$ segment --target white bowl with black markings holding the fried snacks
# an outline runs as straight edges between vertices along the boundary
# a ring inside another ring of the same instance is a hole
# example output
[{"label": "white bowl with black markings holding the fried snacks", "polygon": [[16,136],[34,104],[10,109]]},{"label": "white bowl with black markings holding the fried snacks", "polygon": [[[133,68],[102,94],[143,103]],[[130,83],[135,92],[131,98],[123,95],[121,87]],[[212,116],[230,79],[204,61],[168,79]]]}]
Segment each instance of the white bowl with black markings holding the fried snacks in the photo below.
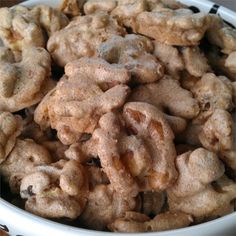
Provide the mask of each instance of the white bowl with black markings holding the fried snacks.
[{"label": "white bowl with black markings holding the fried snacks", "polygon": [[[203,12],[213,11],[221,15],[221,17],[230,22],[236,27],[236,13],[225,8],[219,7],[213,2],[206,0],[179,0],[180,2],[194,6]],[[47,4],[57,7],[60,0],[30,0],[24,2],[22,5],[33,6],[36,4]],[[215,6],[214,6],[215,5]],[[1,187],[1,186],[0,186]],[[86,230],[63,224],[55,223],[50,220],[32,215],[24,210],[21,210],[14,205],[6,202],[0,198],[0,229],[5,228],[9,230],[11,236],[117,236],[117,235],[134,235],[134,234],[119,234],[100,232],[94,230]],[[1,236],[0,232],[0,236]],[[187,228],[154,232],[154,233],[140,233],[139,236],[222,236],[222,235],[236,235],[236,212],[227,216],[221,217],[207,223],[190,226]]]}]

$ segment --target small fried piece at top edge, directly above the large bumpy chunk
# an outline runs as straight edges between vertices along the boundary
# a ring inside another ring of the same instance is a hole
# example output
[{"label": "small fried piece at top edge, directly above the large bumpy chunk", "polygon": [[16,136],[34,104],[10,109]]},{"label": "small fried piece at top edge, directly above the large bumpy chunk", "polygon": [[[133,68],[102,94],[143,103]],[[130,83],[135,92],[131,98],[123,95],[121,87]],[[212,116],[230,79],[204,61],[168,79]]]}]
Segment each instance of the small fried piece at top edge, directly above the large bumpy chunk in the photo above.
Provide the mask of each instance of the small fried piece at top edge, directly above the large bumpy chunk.
[{"label": "small fried piece at top edge, directly above the large bumpy chunk", "polygon": [[116,0],[88,0],[84,4],[84,12],[86,15],[97,12],[111,12],[117,5]]}]

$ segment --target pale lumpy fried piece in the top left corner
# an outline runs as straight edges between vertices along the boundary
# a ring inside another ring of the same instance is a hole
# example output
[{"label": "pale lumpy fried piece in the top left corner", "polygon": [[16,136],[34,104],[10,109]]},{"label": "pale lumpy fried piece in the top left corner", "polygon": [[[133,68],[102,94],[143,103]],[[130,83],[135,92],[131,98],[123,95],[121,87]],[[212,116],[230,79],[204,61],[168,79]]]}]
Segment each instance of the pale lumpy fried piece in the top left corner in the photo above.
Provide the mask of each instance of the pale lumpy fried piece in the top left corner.
[{"label": "pale lumpy fried piece in the top left corner", "polygon": [[44,47],[43,30],[26,7],[0,8],[0,38],[12,50]]}]

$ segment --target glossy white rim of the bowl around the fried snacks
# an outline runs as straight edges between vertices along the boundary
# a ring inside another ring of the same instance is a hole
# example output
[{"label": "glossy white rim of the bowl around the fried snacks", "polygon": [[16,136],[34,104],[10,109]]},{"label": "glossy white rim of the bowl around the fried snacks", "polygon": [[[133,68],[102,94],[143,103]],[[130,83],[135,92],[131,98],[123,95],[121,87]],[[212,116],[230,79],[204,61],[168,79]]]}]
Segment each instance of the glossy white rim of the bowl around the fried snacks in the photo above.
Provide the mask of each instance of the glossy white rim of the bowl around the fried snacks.
[{"label": "glossy white rim of the bowl around the fried snacks", "polygon": [[[211,9],[213,5],[217,5],[220,7],[221,11],[220,13],[221,16],[224,19],[230,19],[230,20],[234,20],[233,25],[236,26],[236,12],[220,6],[218,4],[215,4],[214,2],[208,1],[208,0],[178,0],[186,5],[194,5],[196,4],[196,6],[198,6],[200,9]],[[60,0],[27,0],[23,3],[21,3],[20,5],[24,5],[24,6],[33,6],[35,4],[49,4],[49,5],[53,5],[53,6],[58,6]],[[23,217],[26,221],[30,222],[30,221],[34,221],[36,224],[38,225],[44,225],[47,226],[48,228],[51,227],[56,227],[58,230],[60,231],[65,231],[65,230],[69,230],[71,233],[81,233],[81,234],[89,234],[89,235],[95,235],[95,236],[101,236],[101,235],[108,235],[108,236],[112,236],[112,235],[137,235],[137,233],[118,233],[118,232],[105,232],[105,231],[99,231],[99,230],[91,230],[91,229],[85,229],[85,228],[79,228],[79,227],[75,227],[75,226],[70,226],[70,225],[66,225],[66,224],[62,224],[62,223],[58,223],[55,221],[52,221],[50,219],[45,219],[43,217],[34,215],[30,212],[27,212],[26,210],[23,210],[9,202],[7,202],[6,200],[4,200],[1,195],[0,195],[0,209],[2,208],[3,211],[5,212],[9,212],[12,214],[16,214],[18,217]],[[167,235],[171,235],[173,233],[191,233],[193,230],[201,230],[204,227],[209,227],[209,226],[213,226],[215,224],[219,224],[221,222],[224,222],[226,220],[235,218],[236,220],[236,211],[233,213],[230,213],[228,215],[222,216],[220,218],[214,219],[214,220],[210,220],[208,222],[204,222],[198,225],[192,225],[192,226],[188,226],[188,227],[184,227],[184,228],[179,228],[179,229],[173,229],[173,230],[167,230],[167,231],[159,231],[159,232],[145,232],[145,233],[138,233],[139,236],[167,236]],[[1,223],[1,222],[0,222]],[[199,231],[200,232],[200,231]]]}]

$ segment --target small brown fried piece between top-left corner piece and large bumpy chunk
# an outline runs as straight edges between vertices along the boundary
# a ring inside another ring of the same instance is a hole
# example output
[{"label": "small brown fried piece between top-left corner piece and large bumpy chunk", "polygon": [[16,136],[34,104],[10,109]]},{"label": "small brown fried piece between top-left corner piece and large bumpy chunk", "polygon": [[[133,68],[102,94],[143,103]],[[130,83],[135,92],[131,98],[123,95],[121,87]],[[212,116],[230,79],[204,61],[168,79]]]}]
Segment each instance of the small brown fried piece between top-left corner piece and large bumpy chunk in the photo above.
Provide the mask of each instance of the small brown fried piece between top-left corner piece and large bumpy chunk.
[{"label": "small brown fried piece between top-left corner piece and large bumpy chunk", "polygon": [[63,13],[47,5],[35,6],[31,10],[31,14],[33,14],[34,19],[47,32],[48,36],[51,36],[69,24],[68,18]]}]

